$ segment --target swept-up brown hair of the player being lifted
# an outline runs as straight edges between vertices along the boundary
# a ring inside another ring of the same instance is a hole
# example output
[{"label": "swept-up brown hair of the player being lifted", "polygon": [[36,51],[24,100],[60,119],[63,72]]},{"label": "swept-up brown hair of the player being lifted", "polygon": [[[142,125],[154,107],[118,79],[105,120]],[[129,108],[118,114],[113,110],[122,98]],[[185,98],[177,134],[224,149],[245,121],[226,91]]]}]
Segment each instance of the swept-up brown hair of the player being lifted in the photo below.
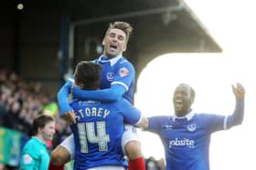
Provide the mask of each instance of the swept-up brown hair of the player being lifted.
[{"label": "swept-up brown hair of the player being lifted", "polygon": [[107,35],[107,33],[109,33],[109,31],[110,31],[111,29],[114,29],[114,28],[116,28],[116,29],[121,29],[121,30],[125,33],[125,35],[126,35],[126,41],[125,41],[125,43],[127,44],[128,41],[129,41],[130,35],[131,35],[132,32],[133,32],[133,27],[132,27],[132,25],[130,25],[129,23],[123,22],[123,21],[116,21],[116,22],[114,22],[113,24],[110,23],[110,25],[109,25],[109,27],[108,27],[108,29],[107,29],[107,31],[106,31],[106,35]]}]

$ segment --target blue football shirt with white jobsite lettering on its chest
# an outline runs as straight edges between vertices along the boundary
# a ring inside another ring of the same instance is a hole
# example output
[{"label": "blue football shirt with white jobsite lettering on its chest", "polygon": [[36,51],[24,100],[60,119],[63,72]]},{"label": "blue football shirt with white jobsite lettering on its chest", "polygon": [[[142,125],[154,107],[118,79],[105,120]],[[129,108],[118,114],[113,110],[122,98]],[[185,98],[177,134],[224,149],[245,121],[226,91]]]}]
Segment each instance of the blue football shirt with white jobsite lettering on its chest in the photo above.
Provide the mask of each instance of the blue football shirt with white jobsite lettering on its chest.
[{"label": "blue football shirt with white jobsite lettering on its chest", "polygon": [[166,170],[208,170],[210,135],[225,129],[224,115],[194,114],[149,117],[148,131],[165,146]]}]

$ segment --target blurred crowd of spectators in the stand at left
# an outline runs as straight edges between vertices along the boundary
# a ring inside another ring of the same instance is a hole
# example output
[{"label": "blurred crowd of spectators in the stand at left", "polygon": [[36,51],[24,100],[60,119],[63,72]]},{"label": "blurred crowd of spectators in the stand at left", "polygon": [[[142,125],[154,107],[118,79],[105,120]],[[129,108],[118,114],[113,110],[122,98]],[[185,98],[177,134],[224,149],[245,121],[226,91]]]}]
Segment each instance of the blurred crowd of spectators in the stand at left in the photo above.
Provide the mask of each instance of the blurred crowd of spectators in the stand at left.
[{"label": "blurred crowd of spectators in the stand at left", "polygon": [[[0,126],[20,131],[29,138],[33,135],[32,123],[37,115],[54,116],[56,135],[48,144],[49,151],[70,134],[68,125],[59,117],[55,98],[55,94],[40,83],[27,83],[14,72],[0,69]],[[0,165],[0,169],[5,168]]]}]

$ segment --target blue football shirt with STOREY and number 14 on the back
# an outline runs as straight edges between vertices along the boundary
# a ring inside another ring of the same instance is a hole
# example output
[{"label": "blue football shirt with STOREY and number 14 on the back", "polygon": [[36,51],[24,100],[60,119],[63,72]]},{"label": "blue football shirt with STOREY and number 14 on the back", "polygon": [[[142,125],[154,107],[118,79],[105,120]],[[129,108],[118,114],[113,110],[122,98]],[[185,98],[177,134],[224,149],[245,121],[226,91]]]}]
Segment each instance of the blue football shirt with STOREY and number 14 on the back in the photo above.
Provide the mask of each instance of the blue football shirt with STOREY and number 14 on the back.
[{"label": "blue football shirt with STOREY and number 14 on the back", "polygon": [[74,100],[77,123],[71,125],[76,148],[74,169],[127,165],[123,158],[123,122],[136,124],[141,113],[127,100],[113,103]]}]

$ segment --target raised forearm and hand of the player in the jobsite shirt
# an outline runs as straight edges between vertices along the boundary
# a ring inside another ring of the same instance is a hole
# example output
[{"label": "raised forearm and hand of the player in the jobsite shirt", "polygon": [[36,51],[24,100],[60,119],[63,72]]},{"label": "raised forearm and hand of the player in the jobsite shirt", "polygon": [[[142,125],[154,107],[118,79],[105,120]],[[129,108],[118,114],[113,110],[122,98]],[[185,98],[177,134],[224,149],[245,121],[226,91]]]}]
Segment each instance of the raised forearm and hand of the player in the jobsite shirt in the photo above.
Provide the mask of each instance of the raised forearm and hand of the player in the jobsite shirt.
[{"label": "raised forearm and hand of the player in the jobsite shirt", "polygon": [[233,115],[229,115],[227,119],[227,128],[234,125],[240,125],[243,121],[244,115],[244,95],[245,89],[239,83],[235,86],[232,85],[233,93],[236,97],[236,106]]}]

